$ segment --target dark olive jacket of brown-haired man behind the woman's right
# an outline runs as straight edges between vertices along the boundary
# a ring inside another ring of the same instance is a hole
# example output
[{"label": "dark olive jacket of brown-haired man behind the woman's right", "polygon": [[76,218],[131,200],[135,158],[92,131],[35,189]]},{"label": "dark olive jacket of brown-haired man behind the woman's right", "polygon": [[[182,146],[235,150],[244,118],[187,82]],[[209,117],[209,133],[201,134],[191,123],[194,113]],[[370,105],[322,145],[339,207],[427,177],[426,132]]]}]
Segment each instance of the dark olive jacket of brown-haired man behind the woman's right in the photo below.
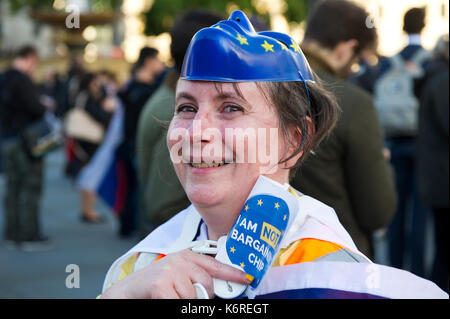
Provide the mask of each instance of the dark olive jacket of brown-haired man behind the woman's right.
[{"label": "dark olive jacket of brown-haired man behind the woman's right", "polygon": [[394,180],[382,154],[382,134],[372,98],[339,80],[332,69],[304,48],[318,76],[342,110],[335,129],[316,148],[291,185],[335,209],[358,249],[372,256],[371,234],[387,227],[396,208]]}]

